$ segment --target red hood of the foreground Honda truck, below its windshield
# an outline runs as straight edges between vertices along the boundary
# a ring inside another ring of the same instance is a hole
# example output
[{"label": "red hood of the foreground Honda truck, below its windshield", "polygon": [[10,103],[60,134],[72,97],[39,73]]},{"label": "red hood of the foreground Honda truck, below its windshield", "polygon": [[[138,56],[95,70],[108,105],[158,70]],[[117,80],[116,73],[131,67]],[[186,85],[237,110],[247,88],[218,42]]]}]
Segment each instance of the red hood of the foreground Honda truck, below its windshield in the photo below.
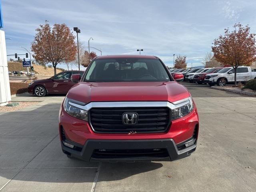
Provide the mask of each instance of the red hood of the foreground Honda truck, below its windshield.
[{"label": "red hood of the foreground Honda truck, below its windshield", "polygon": [[79,82],[67,97],[81,102],[97,101],[169,101],[189,97],[188,90],[170,82]]}]

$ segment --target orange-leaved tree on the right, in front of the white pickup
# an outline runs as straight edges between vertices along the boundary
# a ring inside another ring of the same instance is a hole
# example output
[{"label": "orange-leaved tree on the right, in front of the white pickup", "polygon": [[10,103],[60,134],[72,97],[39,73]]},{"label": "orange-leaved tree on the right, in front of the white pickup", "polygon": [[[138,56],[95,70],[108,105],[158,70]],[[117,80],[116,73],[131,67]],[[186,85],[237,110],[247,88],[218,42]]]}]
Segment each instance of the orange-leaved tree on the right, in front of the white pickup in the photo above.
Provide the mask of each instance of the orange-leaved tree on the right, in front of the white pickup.
[{"label": "orange-leaved tree on the right, in front of the white pickup", "polygon": [[238,66],[250,66],[256,61],[255,33],[250,33],[250,27],[234,24],[234,30],[224,30],[213,42],[212,52],[218,62],[230,64],[234,68],[234,81],[236,86],[236,70]]}]

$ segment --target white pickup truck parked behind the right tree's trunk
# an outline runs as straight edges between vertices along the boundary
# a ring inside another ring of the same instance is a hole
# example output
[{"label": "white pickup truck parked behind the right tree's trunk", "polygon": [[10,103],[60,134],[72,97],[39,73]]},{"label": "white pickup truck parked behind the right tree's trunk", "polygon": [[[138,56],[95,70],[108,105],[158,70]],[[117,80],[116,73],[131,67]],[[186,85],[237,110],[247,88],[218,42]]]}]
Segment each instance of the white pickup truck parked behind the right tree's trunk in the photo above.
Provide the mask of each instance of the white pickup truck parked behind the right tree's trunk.
[{"label": "white pickup truck parked behind the right tree's trunk", "polygon": [[[248,80],[255,79],[256,72],[252,72],[250,67],[241,66],[236,70],[236,81],[247,82]],[[226,67],[220,70],[218,73],[211,73],[205,76],[204,82],[210,86],[219,85],[225,86],[228,83],[234,83],[235,73],[233,67]]]}]

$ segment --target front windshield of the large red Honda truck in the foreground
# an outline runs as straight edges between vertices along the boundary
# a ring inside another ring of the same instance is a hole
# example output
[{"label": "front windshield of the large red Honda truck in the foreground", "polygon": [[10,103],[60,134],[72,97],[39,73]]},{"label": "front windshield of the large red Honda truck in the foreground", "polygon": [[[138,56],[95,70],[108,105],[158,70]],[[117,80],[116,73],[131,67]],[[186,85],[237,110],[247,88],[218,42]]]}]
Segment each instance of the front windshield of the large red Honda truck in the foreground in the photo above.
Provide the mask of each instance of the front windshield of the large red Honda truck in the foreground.
[{"label": "front windshield of the large red Honda truck in the foreground", "polygon": [[163,64],[157,59],[99,59],[87,71],[85,82],[170,81]]}]

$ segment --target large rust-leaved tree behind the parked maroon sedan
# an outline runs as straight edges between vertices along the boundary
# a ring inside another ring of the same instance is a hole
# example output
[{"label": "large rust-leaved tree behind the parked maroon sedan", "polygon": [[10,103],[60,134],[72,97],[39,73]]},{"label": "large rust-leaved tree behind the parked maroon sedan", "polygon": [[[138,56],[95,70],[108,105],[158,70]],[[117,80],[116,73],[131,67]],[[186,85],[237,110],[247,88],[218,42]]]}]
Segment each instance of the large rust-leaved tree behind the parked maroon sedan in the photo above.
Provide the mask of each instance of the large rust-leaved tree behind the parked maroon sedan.
[{"label": "large rust-leaved tree behind the parked maroon sedan", "polygon": [[32,44],[33,57],[40,62],[52,63],[54,74],[56,66],[62,62],[75,60],[75,36],[66,24],[54,24],[51,28],[48,21],[36,29]]}]

